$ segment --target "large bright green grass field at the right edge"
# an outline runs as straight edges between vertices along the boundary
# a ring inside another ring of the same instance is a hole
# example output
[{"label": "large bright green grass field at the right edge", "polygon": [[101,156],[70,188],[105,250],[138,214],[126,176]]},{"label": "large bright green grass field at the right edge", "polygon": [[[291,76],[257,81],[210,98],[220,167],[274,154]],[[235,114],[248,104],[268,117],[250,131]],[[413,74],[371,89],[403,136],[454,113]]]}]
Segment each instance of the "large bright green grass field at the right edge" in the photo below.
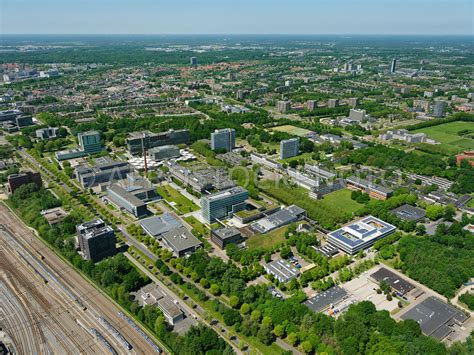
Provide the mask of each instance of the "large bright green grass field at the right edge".
[{"label": "large bright green grass field at the right edge", "polygon": [[438,147],[442,152],[445,154],[456,154],[463,150],[474,149],[474,139],[457,134],[462,130],[474,131],[474,123],[449,122],[438,126],[417,129],[412,133],[426,133],[429,138],[441,143]]}]

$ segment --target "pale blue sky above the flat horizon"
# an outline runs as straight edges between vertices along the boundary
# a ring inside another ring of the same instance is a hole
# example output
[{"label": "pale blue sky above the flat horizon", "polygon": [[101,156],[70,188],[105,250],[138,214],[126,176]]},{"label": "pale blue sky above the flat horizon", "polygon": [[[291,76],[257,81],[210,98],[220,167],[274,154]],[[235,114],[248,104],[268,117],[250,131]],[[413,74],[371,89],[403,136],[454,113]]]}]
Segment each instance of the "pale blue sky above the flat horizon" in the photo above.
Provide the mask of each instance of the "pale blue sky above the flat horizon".
[{"label": "pale blue sky above the flat horizon", "polygon": [[0,0],[0,35],[473,35],[473,3],[473,0]]}]

